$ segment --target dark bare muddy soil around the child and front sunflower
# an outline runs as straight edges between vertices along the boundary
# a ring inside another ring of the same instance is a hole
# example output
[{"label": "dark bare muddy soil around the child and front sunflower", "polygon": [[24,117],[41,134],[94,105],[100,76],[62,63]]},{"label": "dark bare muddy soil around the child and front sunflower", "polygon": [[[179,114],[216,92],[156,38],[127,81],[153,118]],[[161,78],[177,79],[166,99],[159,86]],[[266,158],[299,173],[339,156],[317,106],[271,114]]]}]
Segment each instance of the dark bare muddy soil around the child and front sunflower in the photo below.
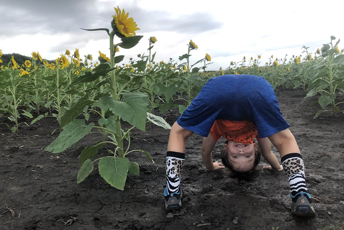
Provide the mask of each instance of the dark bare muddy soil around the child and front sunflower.
[{"label": "dark bare muddy soil around the child and front sunflower", "polygon": [[[0,125],[0,229],[322,229],[344,226],[344,115],[322,114],[312,119],[318,105],[304,92],[276,90],[284,118],[298,141],[306,167],[308,191],[316,217],[291,214],[289,184],[284,172],[262,170],[255,182],[238,183],[221,171],[207,171],[201,160],[202,137],[187,141],[182,170],[183,208],[168,213],[163,202],[165,153],[169,130],[151,124],[133,130],[131,149],[150,152],[129,155],[140,165],[140,176],[130,174],[125,190],[111,187],[97,167],[77,184],[78,155],[99,136],[87,135],[77,146],[59,154],[43,149],[57,136],[54,119],[42,119],[12,134]],[[314,98],[313,98],[314,99]],[[339,98],[344,101],[343,95]],[[340,101],[338,100],[338,101]],[[171,125],[177,110],[164,117]],[[32,119],[31,119],[32,120]],[[28,123],[31,121],[28,120]],[[96,117],[90,121],[96,122]],[[123,123],[123,127],[129,125]],[[223,141],[223,139],[221,139]],[[99,154],[107,155],[107,146]],[[213,151],[220,160],[222,143]],[[278,152],[274,149],[279,158]],[[267,163],[261,160],[260,168]],[[8,206],[11,212],[5,207]],[[7,212],[6,212],[7,211]],[[72,219],[76,218],[72,221]],[[233,220],[236,220],[233,221]],[[64,222],[66,225],[64,225]],[[67,225],[70,223],[70,225]],[[201,224],[201,226],[200,226]],[[198,226],[198,227],[197,227]]]}]

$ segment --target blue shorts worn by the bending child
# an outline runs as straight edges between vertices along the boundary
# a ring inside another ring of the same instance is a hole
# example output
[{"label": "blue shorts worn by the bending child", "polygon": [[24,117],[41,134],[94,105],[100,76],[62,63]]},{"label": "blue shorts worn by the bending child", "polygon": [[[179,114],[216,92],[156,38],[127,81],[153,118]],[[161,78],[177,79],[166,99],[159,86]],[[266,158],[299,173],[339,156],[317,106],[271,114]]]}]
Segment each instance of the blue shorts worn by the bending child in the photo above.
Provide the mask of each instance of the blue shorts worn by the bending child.
[{"label": "blue shorts worn by the bending child", "polygon": [[201,136],[208,136],[217,119],[252,121],[258,138],[289,128],[272,86],[254,75],[222,75],[211,78],[192,100],[177,123]]}]

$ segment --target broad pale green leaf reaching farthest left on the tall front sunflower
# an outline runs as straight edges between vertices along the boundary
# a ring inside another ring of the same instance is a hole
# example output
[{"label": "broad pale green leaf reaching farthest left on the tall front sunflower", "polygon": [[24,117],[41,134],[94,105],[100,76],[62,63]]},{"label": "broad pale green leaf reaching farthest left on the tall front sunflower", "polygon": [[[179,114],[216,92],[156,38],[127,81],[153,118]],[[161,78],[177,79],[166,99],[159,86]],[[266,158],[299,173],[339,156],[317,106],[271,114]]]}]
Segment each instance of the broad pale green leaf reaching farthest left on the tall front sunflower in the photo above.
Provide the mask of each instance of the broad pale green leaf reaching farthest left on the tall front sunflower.
[{"label": "broad pale green leaf reaching farthest left on the tall front sunflower", "polygon": [[58,135],[56,140],[44,150],[52,153],[60,153],[65,151],[68,147],[72,146],[72,144],[82,139],[87,133],[90,133],[93,127],[93,122],[86,126],[85,120],[75,119],[69,122],[63,128],[63,131],[60,133],[60,135]]}]

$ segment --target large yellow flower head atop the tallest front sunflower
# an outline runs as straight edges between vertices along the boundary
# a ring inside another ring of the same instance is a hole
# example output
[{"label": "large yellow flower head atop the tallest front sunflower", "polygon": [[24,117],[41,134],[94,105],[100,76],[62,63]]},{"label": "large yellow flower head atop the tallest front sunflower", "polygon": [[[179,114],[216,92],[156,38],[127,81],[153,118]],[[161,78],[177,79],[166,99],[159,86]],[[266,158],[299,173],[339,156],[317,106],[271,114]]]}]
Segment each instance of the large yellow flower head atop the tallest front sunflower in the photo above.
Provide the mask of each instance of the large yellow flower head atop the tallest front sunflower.
[{"label": "large yellow flower head atop the tallest front sunflower", "polygon": [[116,14],[112,15],[111,27],[118,37],[131,37],[135,36],[135,31],[140,30],[133,18],[128,18],[129,13],[125,13],[124,9],[121,10],[117,6],[115,8]]}]

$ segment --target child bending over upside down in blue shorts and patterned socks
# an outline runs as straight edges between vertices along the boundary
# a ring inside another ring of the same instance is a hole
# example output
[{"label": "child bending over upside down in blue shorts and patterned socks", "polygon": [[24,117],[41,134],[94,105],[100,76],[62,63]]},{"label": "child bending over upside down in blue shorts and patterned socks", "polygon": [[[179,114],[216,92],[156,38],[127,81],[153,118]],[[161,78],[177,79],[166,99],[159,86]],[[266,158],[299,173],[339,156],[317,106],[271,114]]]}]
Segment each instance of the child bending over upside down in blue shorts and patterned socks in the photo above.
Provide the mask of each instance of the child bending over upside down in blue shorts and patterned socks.
[{"label": "child bending over upside down in blue shorts and patterned socks", "polygon": [[[181,207],[181,169],[186,140],[194,132],[204,136],[202,160],[209,170],[228,168],[230,176],[252,179],[260,154],[269,162],[267,169],[287,173],[292,213],[314,216],[307,193],[303,160],[297,142],[284,120],[272,86],[263,77],[222,75],[211,78],[173,124],[166,154],[166,210]],[[220,136],[228,142],[222,162],[212,161],[212,149]],[[257,136],[258,145],[253,139]],[[281,156],[282,166],[271,152],[271,142]]]}]

